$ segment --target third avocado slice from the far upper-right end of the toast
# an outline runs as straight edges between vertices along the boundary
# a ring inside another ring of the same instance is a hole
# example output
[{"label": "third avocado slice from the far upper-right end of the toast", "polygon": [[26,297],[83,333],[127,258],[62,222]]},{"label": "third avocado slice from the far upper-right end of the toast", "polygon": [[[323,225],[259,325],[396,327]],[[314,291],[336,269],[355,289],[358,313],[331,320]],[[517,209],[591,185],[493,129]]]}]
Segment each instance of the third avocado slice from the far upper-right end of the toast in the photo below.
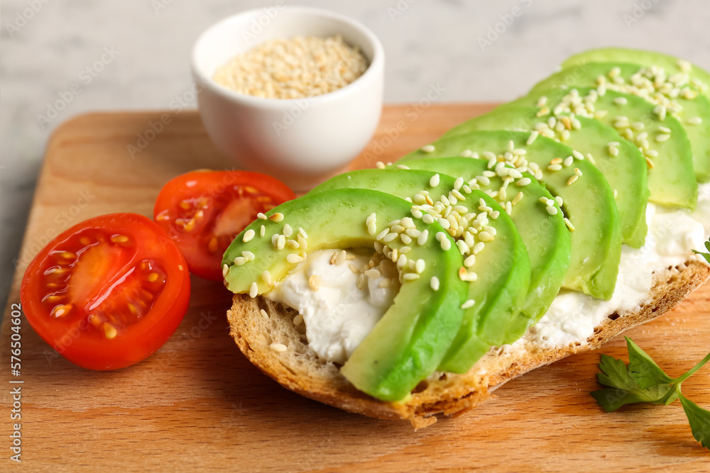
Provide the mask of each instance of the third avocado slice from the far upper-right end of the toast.
[{"label": "third avocado slice from the far upper-right end of the toast", "polygon": [[[541,110],[547,108],[553,116],[571,111],[576,116],[596,118],[643,148],[650,167],[650,201],[665,206],[695,208],[698,186],[693,155],[685,128],[677,118],[665,116],[660,120],[654,111],[655,106],[638,96],[612,90],[599,96],[596,89],[590,87],[537,91],[504,106],[535,106],[542,101],[542,97],[545,97],[546,104],[540,107]],[[636,125],[638,131],[633,130]]]}]

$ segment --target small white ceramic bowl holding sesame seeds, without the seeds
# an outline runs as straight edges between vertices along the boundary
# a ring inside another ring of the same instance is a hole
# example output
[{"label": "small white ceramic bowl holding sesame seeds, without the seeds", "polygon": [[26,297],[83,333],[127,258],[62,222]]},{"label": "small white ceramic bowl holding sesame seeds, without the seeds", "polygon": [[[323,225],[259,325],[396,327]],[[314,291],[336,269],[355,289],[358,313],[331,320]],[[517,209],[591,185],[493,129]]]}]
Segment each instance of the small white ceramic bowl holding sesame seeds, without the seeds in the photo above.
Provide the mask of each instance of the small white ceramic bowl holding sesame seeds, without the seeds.
[{"label": "small white ceramic bowl holding sesame seeds, without the seeds", "polygon": [[[368,69],[351,84],[309,99],[263,99],[214,82],[214,71],[267,40],[342,35]],[[305,191],[336,174],[367,145],[382,111],[384,50],[365,26],[346,16],[300,6],[244,11],[208,28],[192,49],[202,123],[241,169],[271,174]]]}]

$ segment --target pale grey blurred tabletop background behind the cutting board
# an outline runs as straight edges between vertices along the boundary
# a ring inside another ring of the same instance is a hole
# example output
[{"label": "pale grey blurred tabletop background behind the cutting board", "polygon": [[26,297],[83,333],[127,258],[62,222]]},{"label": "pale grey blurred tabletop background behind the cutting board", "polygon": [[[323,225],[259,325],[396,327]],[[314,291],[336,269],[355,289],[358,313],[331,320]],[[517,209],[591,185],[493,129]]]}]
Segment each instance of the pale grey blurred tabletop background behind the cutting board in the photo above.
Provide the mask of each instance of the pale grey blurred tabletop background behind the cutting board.
[{"label": "pale grey blurred tabletop background behind the cutting board", "polygon": [[[3,307],[52,130],[87,111],[168,108],[190,87],[188,55],[200,32],[231,13],[275,1],[2,1]],[[391,103],[417,101],[437,83],[446,89],[442,101],[507,101],[573,52],[606,45],[659,50],[710,67],[708,0],[285,3],[339,11],[371,28],[386,50],[385,99]],[[491,33],[496,29],[500,33]],[[482,47],[481,40],[491,43]],[[82,70],[99,60],[104,48],[116,56],[84,84]],[[80,84],[81,93],[50,123],[39,123],[38,115],[72,84]]]}]

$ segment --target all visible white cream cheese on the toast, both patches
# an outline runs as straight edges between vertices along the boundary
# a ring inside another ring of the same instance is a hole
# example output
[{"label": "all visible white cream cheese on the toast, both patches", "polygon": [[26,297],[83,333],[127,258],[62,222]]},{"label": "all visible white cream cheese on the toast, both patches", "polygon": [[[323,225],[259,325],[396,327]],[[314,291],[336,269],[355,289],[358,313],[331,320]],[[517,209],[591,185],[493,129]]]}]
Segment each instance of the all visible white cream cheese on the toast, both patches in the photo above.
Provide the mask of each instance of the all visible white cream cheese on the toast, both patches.
[{"label": "all visible white cream cheese on the toast, both patches", "polygon": [[[691,250],[703,250],[710,235],[710,184],[699,185],[693,212],[648,204],[648,235],[638,249],[623,246],[616,289],[609,301],[562,290],[540,321],[525,335],[542,348],[586,343],[594,328],[611,313],[623,313],[649,296],[652,272],[682,265]],[[303,317],[310,347],[324,360],[343,363],[391,306],[399,289],[397,279],[382,284],[384,276],[371,279],[362,289],[357,282],[368,255],[357,255],[342,265],[331,263],[334,252],[308,255],[266,294],[269,299],[295,308]],[[704,261],[700,259],[701,261]],[[309,285],[313,275],[320,288]],[[383,287],[386,286],[386,287]]]}]

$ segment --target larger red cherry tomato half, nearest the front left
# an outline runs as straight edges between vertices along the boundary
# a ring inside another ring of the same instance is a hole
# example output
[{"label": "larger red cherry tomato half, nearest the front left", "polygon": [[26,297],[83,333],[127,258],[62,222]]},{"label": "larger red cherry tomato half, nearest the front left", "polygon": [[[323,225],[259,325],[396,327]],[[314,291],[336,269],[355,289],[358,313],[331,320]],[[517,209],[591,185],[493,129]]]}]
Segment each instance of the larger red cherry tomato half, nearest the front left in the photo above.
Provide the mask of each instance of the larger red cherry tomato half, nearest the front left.
[{"label": "larger red cherry tomato half, nearest the front left", "polygon": [[32,260],[20,299],[45,342],[80,367],[117,369],[158,350],[187,312],[190,274],[173,240],[136,213],[69,228]]}]

